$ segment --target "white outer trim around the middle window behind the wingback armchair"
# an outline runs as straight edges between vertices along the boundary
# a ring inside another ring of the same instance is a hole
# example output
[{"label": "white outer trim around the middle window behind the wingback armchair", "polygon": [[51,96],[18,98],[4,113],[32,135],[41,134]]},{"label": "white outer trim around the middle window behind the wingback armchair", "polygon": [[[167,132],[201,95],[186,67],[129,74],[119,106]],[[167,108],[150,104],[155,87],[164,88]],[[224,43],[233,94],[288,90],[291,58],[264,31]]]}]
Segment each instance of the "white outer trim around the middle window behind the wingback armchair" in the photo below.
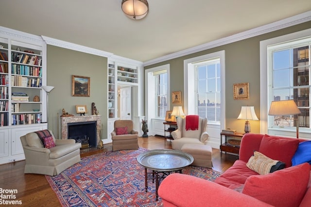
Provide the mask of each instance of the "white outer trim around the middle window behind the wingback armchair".
[{"label": "white outer trim around the middle window behind the wingback armchair", "polygon": [[[208,59],[213,59],[213,58],[220,58],[220,77],[221,77],[221,117],[220,117],[220,128],[225,128],[225,50],[222,51],[218,51],[218,52],[213,52],[207,55],[202,55],[202,56],[198,56],[195,58],[190,58],[187,60],[184,60],[184,109],[185,109],[185,113],[189,114],[189,113],[193,113],[194,109],[189,109],[189,102],[190,101],[195,101],[192,99],[189,99],[188,94],[192,93],[190,92],[189,86],[190,85],[194,85],[193,82],[190,81],[194,81],[194,77],[190,77],[191,74],[189,73],[189,67],[191,67],[192,63],[195,62],[200,62],[200,61],[204,61],[204,60],[208,60]],[[195,92],[193,92],[195,93]],[[191,104],[194,104],[191,103]]]}]

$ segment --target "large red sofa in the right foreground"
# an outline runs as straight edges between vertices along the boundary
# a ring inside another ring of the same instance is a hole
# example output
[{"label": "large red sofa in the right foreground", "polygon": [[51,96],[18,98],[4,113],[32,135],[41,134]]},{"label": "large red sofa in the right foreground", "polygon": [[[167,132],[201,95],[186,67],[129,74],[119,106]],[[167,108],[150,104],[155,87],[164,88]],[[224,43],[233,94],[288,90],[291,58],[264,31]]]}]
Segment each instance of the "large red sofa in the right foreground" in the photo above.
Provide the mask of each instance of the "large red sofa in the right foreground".
[{"label": "large red sofa in the right foreground", "polygon": [[[164,207],[311,207],[310,164],[292,166],[298,145],[304,141],[245,134],[239,160],[214,182],[171,174],[160,184],[158,194]],[[259,175],[246,166],[254,151],[284,162],[285,169]]]}]

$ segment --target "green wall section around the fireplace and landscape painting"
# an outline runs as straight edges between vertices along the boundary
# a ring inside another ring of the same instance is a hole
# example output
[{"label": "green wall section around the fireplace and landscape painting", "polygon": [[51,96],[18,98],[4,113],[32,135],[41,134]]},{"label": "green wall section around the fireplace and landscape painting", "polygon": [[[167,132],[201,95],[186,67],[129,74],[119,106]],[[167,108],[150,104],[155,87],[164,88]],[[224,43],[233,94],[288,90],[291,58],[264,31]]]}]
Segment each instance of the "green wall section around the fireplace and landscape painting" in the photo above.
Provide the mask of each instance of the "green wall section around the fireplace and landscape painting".
[{"label": "green wall section around the fireplace and landscape painting", "polygon": [[[71,75],[90,77],[90,96],[71,96]],[[91,104],[102,115],[102,138],[107,134],[107,58],[75,50],[47,46],[47,85],[55,88],[49,94],[49,129],[60,138],[62,109],[77,116],[75,105]]]}]

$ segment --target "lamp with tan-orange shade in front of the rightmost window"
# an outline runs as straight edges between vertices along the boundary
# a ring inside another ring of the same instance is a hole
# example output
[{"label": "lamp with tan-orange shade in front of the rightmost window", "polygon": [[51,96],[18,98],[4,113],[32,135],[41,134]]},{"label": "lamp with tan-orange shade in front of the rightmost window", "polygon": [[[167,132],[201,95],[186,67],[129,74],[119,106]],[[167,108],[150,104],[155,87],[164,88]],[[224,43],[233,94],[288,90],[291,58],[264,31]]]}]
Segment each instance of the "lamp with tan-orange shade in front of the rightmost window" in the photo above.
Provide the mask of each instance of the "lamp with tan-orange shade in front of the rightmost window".
[{"label": "lamp with tan-orange shade in front of the rightmost window", "polygon": [[[272,101],[270,105],[269,115],[297,115],[301,113],[294,100]],[[294,119],[295,120],[295,119]],[[296,119],[296,137],[299,138],[299,120]]]}]

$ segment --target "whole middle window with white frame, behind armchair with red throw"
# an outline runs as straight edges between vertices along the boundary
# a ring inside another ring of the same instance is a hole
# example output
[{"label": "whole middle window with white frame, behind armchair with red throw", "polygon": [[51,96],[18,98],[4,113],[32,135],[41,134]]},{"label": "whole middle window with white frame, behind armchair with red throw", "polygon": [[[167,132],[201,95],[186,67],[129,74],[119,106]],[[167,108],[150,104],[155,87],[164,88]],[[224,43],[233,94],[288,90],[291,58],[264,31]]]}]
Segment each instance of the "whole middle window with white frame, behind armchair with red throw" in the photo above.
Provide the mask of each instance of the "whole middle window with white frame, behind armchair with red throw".
[{"label": "whole middle window with white frame, behind armchair with red throw", "polygon": [[225,127],[225,105],[221,105],[225,102],[222,74],[225,74],[224,50],[184,61],[185,113],[207,117],[208,126],[214,125],[214,129]]}]

